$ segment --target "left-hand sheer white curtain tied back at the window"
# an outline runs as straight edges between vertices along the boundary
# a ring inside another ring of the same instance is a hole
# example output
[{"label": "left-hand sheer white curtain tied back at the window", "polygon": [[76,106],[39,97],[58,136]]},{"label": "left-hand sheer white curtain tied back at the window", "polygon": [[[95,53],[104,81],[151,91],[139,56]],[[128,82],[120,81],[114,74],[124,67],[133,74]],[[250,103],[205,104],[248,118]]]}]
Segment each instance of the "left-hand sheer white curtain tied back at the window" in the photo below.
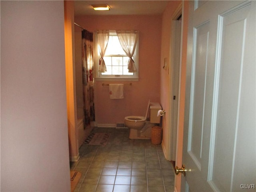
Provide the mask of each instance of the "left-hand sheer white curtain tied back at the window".
[{"label": "left-hand sheer white curtain tied back at the window", "polygon": [[109,31],[107,30],[100,30],[96,33],[97,35],[97,42],[98,42],[98,48],[99,48],[99,52],[100,52],[100,61],[99,61],[99,72],[106,72],[107,68],[106,68],[106,64],[105,61],[103,59],[105,52],[106,52],[106,48],[108,46],[108,39],[109,39]]}]

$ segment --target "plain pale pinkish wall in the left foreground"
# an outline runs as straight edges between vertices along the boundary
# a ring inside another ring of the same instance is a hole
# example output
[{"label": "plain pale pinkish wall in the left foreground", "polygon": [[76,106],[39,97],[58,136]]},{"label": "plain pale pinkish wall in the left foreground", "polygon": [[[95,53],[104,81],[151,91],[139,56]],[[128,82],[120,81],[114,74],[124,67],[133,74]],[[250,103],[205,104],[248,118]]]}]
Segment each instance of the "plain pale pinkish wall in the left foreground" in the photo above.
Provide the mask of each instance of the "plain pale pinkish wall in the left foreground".
[{"label": "plain pale pinkish wall in the left foreground", "polygon": [[69,191],[63,1],[1,1],[1,191]]}]

